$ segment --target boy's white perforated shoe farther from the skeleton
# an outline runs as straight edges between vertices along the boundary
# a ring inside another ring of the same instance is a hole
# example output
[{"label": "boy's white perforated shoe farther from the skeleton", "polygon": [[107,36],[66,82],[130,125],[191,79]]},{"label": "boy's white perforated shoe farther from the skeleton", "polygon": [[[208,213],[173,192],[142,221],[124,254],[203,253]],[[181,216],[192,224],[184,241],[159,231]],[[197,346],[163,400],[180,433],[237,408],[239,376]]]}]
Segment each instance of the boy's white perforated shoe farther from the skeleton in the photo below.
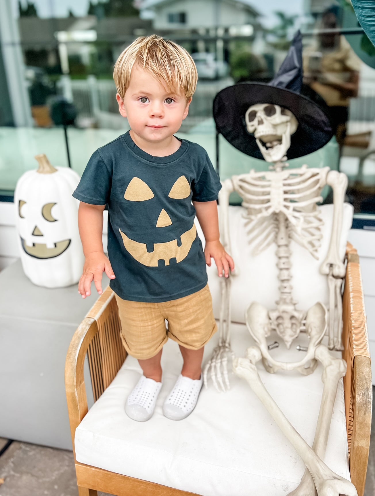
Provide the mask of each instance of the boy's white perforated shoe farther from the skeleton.
[{"label": "boy's white perforated shoe farther from the skeleton", "polygon": [[146,422],[153,416],[156,400],[161,390],[161,382],[142,375],[125,403],[128,417],[138,422]]}]

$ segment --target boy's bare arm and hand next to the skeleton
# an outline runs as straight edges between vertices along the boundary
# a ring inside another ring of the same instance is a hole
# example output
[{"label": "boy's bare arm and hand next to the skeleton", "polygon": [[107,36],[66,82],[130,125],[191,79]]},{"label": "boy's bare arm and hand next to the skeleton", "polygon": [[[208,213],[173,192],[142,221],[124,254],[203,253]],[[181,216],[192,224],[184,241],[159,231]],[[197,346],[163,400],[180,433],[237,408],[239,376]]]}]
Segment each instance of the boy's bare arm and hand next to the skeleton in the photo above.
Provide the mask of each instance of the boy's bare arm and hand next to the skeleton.
[{"label": "boy's bare arm and hand next to the skeleton", "polygon": [[206,263],[211,266],[211,257],[214,258],[217,266],[217,273],[222,277],[224,270],[225,277],[229,276],[229,268],[234,270],[233,258],[228,255],[220,243],[219,222],[217,216],[217,203],[214,201],[193,201],[197,212],[197,219],[201,225],[206,240],[205,258]]}]

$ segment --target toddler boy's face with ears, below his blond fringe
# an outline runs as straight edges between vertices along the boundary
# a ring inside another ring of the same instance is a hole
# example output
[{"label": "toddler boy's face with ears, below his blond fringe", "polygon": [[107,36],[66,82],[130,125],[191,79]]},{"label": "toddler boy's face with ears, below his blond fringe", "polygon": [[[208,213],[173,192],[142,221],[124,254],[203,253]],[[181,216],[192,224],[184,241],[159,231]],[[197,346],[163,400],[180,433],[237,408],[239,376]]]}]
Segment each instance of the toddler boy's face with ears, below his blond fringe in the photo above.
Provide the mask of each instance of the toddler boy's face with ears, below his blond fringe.
[{"label": "toddler boy's face with ears, below his blond fringe", "polygon": [[116,95],[122,117],[133,132],[149,142],[160,142],[178,131],[188,115],[185,95],[170,93],[146,70],[134,65],[122,100]]}]

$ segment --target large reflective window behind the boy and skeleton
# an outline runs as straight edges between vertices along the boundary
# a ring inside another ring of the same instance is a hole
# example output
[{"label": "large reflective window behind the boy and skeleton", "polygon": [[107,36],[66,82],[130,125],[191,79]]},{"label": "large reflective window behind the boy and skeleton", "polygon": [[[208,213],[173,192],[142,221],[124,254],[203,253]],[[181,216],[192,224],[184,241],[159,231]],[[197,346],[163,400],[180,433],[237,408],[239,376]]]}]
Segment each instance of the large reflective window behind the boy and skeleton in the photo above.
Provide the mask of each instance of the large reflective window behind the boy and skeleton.
[{"label": "large reflective window behind the boy and skeleton", "polygon": [[[335,126],[335,138],[308,163],[340,167],[349,177],[348,199],[356,212],[375,213],[375,48],[363,33],[350,34],[359,27],[350,5],[205,0],[197,9],[193,3],[0,2],[0,189],[11,194],[18,177],[35,168],[37,153],[67,166],[61,120],[53,112],[61,101],[75,115],[67,136],[78,173],[98,146],[128,129],[118,114],[113,64],[135,38],[152,33],[181,44],[196,63],[197,92],[179,134],[202,144],[215,162],[215,94],[234,83],[270,81],[299,28],[304,82],[329,106]],[[5,22],[14,26],[14,38],[6,34]],[[264,168],[221,137],[219,146],[222,178]],[[291,166],[302,162],[291,161]]]}]

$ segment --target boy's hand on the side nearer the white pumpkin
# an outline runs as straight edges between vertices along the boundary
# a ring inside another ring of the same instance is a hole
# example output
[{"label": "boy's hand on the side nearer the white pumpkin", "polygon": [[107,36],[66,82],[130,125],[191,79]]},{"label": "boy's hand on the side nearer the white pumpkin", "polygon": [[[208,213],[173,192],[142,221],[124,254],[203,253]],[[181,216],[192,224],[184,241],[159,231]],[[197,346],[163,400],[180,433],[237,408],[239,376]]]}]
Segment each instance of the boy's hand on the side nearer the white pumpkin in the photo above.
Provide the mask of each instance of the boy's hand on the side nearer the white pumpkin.
[{"label": "boy's hand on the side nearer the white pumpkin", "polygon": [[91,295],[91,283],[93,281],[98,293],[100,295],[103,293],[103,272],[106,272],[109,279],[115,278],[112,266],[103,251],[95,251],[87,255],[85,265],[83,266],[83,274],[78,283],[78,293],[82,295],[82,298]]}]

